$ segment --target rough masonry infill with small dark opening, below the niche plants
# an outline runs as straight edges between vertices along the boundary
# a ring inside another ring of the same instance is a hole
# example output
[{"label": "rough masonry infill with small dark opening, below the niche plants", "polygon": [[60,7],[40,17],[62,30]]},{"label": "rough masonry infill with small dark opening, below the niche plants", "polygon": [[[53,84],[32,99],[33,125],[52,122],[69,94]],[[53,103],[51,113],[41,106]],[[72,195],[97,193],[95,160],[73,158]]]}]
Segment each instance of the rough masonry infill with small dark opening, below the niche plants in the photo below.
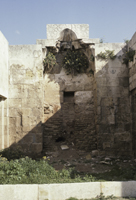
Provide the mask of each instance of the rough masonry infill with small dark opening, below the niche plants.
[{"label": "rough masonry infill with small dark opening, below the niche plants", "polygon": [[93,76],[72,77],[64,69],[44,77],[44,150],[61,142],[82,150],[96,149]]}]

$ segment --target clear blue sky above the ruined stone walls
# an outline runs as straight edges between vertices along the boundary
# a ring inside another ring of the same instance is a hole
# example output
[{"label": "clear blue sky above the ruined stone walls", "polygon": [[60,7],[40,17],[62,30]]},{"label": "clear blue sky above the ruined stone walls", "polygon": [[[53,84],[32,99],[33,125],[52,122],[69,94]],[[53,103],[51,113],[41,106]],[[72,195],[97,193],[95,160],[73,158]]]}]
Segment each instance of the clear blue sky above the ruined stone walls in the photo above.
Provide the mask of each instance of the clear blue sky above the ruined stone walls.
[{"label": "clear blue sky above the ruined stone walls", "polygon": [[46,39],[47,24],[89,24],[90,38],[124,42],[136,31],[136,0],[0,0],[10,45]]}]

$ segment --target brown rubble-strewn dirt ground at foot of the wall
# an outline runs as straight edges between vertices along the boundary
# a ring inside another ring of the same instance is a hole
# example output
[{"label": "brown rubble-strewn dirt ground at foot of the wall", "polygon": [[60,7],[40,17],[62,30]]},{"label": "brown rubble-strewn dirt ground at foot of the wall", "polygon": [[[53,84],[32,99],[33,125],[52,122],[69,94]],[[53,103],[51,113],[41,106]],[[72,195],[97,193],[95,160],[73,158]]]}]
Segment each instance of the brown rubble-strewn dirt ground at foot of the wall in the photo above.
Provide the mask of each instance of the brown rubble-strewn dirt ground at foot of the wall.
[{"label": "brown rubble-strewn dirt ground at foot of the wall", "polygon": [[136,159],[115,159],[91,156],[89,152],[76,150],[72,145],[57,152],[46,152],[46,159],[56,170],[75,168],[80,173],[104,173],[115,166],[122,168],[136,167]]}]

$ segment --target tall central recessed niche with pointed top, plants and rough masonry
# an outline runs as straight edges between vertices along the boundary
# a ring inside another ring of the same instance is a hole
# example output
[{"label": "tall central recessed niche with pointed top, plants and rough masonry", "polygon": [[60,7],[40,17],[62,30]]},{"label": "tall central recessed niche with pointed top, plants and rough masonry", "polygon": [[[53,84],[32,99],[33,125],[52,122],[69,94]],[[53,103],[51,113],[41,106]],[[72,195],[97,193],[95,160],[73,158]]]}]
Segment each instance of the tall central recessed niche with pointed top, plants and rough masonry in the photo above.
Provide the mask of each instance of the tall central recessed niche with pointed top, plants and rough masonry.
[{"label": "tall central recessed niche with pointed top, plants and rough masonry", "polygon": [[50,70],[46,70],[47,65],[44,68],[48,107],[44,112],[44,151],[59,150],[61,144],[86,151],[96,149],[91,45],[66,28],[56,47],[47,47],[47,57],[52,55],[56,62]]}]

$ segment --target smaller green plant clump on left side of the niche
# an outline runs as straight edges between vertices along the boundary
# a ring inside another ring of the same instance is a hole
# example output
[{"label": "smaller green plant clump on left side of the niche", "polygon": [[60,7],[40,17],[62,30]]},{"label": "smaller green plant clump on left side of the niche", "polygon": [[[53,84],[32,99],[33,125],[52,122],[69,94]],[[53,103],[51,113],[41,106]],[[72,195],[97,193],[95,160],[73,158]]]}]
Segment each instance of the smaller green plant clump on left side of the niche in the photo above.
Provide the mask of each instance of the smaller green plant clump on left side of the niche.
[{"label": "smaller green plant clump on left side of the niche", "polygon": [[56,57],[53,53],[49,52],[46,56],[46,58],[43,60],[43,66],[44,66],[44,73],[50,72],[52,68],[56,64]]}]

